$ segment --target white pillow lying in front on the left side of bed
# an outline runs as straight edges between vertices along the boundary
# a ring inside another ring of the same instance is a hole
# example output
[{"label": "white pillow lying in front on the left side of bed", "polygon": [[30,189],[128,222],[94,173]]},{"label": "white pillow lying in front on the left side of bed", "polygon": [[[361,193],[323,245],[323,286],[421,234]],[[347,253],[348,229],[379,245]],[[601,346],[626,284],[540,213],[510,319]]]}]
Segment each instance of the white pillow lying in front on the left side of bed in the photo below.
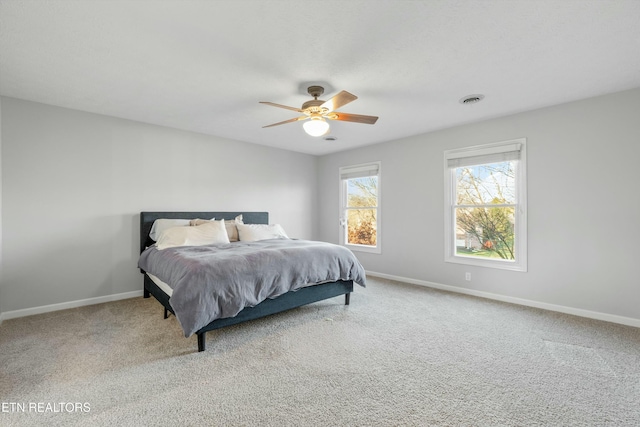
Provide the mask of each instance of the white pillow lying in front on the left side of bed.
[{"label": "white pillow lying in front on the left side of bed", "polygon": [[162,232],[156,242],[159,250],[176,246],[202,246],[229,243],[224,220],[209,221],[195,227],[171,227]]}]

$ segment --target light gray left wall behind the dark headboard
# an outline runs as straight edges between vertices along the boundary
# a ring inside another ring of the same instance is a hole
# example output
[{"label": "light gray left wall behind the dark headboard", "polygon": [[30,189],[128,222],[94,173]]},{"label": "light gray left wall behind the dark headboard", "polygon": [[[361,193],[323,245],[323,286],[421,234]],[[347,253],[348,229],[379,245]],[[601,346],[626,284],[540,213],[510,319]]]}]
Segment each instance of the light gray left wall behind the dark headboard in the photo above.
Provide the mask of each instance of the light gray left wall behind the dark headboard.
[{"label": "light gray left wall behind the dark headboard", "polygon": [[0,100],[3,312],[141,290],[142,210],[266,210],[316,237],[314,156]]}]

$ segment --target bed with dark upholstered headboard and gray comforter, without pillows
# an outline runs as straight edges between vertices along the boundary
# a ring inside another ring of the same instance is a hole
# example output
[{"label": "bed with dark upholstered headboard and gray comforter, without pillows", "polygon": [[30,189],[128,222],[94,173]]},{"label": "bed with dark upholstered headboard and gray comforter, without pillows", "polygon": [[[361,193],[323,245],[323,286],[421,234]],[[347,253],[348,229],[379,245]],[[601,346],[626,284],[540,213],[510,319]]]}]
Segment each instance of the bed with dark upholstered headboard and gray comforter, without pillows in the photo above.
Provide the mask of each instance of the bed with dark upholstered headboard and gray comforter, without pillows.
[{"label": "bed with dark upholstered headboard and gray comforter, without pillows", "polygon": [[[338,245],[279,238],[159,250],[161,242],[156,244],[151,237],[157,238],[152,234],[156,220],[225,220],[229,231],[230,224],[239,218],[242,230],[271,227],[268,212],[140,213],[138,267],[144,275],[144,297],[158,300],[165,318],[169,313],[175,315],[185,337],[195,334],[198,351],[206,349],[208,331],[341,295],[349,305],[354,282],[365,286],[362,266],[348,249]],[[304,261],[309,257],[313,261]],[[265,270],[261,270],[262,264]],[[304,265],[308,271],[297,271]],[[236,277],[240,270],[244,274],[241,279]],[[250,290],[238,291],[234,287],[238,282]]]}]

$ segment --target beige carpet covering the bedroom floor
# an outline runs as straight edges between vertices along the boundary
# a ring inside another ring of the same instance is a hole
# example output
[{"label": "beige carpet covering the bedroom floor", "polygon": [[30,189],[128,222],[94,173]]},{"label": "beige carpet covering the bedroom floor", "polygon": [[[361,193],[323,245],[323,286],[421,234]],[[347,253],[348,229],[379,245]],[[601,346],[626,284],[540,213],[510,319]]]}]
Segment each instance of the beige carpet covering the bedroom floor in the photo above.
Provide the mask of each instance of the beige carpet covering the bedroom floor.
[{"label": "beige carpet covering the bedroom floor", "polygon": [[196,350],[154,299],[5,321],[0,425],[640,425],[640,329],[387,280]]}]

